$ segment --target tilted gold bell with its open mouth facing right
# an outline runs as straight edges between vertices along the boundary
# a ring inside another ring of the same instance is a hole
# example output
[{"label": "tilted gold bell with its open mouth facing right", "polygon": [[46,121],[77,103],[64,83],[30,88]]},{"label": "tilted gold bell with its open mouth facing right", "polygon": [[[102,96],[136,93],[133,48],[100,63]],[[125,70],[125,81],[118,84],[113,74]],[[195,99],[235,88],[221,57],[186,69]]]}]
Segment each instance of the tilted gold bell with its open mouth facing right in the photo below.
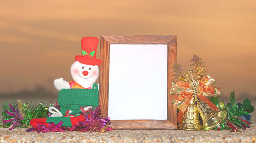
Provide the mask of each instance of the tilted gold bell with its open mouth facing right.
[{"label": "tilted gold bell with its open mouth facing right", "polygon": [[203,129],[211,130],[215,128],[220,122],[222,122],[226,116],[225,110],[212,110],[205,102],[199,101],[197,104],[198,111],[203,120]]}]

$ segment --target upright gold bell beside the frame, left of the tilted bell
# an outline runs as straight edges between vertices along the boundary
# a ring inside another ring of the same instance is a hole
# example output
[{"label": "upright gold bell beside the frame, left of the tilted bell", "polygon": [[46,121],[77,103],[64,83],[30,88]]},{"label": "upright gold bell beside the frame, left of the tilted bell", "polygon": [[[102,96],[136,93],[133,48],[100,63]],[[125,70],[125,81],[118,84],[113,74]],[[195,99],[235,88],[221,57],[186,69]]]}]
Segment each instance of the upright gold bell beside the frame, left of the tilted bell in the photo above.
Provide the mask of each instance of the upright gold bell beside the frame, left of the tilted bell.
[{"label": "upright gold bell beside the frame, left of the tilted bell", "polygon": [[194,104],[189,104],[187,110],[185,111],[181,122],[178,125],[180,130],[202,130],[202,125],[199,121],[199,113],[197,106]]}]

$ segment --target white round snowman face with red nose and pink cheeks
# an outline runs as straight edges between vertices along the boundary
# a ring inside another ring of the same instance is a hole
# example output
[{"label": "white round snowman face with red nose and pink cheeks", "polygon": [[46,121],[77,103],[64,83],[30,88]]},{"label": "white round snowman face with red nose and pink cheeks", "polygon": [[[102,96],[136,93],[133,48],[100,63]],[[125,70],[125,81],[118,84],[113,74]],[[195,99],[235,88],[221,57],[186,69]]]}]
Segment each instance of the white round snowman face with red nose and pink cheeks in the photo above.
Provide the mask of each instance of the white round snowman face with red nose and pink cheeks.
[{"label": "white round snowman face with red nose and pink cheeks", "polygon": [[84,88],[91,87],[99,76],[98,65],[86,65],[78,61],[72,64],[70,71],[73,80]]}]

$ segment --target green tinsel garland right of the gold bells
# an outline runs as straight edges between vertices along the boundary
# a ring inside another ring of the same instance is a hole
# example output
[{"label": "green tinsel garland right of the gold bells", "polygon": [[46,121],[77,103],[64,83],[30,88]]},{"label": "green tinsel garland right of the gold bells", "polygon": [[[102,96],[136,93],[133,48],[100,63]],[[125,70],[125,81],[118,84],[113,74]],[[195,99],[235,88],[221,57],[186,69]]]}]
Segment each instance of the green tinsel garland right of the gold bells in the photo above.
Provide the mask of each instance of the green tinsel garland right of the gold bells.
[{"label": "green tinsel garland right of the gold bells", "polygon": [[[215,97],[210,100],[219,106],[218,98]],[[234,91],[230,94],[230,103],[226,103],[223,107],[220,106],[220,108],[227,111],[227,116],[221,123],[219,123],[215,130],[222,131],[228,129],[230,131],[238,131],[239,128],[245,130],[251,124],[250,113],[254,110],[251,101],[245,99],[242,104],[236,102]]]}]

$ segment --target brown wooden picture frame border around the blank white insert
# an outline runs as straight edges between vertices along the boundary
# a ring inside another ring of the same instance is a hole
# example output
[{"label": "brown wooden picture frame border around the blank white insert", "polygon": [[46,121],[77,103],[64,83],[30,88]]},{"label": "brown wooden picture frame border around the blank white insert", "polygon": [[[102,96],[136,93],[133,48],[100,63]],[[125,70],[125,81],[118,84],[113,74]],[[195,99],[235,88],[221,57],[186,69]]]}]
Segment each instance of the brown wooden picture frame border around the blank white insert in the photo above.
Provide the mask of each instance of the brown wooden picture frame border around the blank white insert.
[{"label": "brown wooden picture frame border around the blank white insert", "polygon": [[[167,45],[167,120],[111,120],[113,129],[177,129],[177,107],[172,104],[175,95],[172,86],[172,65],[176,61],[176,36],[159,35],[102,35],[99,66],[99,105],[102,116],[108,117],[109,60],[111,44],[164,44]],[[111,117],[110,117],[111,119]]]}]

